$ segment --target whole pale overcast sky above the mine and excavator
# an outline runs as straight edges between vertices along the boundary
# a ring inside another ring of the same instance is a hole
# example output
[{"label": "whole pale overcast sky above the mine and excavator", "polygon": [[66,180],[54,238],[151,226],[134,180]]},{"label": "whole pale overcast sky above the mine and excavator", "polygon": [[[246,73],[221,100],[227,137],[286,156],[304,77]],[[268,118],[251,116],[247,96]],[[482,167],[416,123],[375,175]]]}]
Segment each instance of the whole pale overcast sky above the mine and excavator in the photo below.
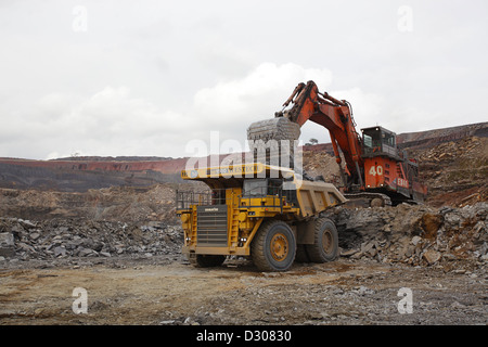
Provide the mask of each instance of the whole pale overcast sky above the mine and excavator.
[{"label": "whole pale overcast sky above the mine and excavator", "polygon": [[487,18],[485,0],[0,0],[0,156],[189,156],[211,131],[244,145],[308,80],[358,129],[486,121]]}]

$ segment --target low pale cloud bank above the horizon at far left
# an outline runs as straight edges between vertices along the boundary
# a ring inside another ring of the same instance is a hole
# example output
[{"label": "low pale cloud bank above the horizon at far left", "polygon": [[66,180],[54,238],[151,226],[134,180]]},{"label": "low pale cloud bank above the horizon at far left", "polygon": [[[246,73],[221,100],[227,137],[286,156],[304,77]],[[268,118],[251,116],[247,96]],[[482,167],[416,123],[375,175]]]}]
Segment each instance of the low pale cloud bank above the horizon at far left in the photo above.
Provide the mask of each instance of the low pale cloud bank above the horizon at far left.
[{"label": "low pale cloud bank above the horizon at far left", "polygon": [[[14,146],[20,156],[29,158],[73,153],[165,156],[166,150],[178,150],[171,147],[176,134],[181,137],[182,132],[175,121],[178,117],[133,97],[128,87],[107,86],[86,98],[49,93],[30,110],[4,121],[8,126],[0,130],[0,156],[9,155],[7,149]],[[4,134],[9,134],[7,141]]]}]

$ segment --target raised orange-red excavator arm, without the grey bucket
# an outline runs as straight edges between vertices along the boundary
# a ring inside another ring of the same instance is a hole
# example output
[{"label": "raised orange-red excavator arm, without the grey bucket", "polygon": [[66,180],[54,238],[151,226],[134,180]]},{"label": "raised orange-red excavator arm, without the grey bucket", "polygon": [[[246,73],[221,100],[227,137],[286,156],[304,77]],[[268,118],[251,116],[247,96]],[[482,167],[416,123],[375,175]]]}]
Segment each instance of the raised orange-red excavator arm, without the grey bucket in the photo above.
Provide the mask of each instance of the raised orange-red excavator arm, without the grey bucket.
[{"label": "raised orange-red excavator arm, without the grey bucket", "polygon": [[317,85],[311,80],[307,83],[301,82],[295,88],[292,95],[283,104],[284,108],[290,104],[293,104],[292,108],[284,113],[279,112],[275,116],[286,117],[300,127],[307,120],[325,127],[331,136],[335,160],[339,168],[342,168],[342,158],[338,149],[344,154],[348,179],[346,180],[344,172],[341,171],[343,181],[347,185],[352,183],[363,188],[361,174],[361,168],[363,168],[362,143],[361,138],[356,132],[350,104],[345,100],[337,100],[326,92],[319,92]]}]

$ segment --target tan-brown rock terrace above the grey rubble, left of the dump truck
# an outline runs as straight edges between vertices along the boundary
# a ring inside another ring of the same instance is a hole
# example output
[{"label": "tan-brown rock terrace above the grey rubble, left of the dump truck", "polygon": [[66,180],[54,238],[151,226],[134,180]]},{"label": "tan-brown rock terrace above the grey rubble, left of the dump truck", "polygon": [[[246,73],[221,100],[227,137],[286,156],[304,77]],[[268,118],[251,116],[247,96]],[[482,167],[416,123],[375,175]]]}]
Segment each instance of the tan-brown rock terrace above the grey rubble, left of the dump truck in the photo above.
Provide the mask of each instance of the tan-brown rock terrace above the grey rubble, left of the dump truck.
[{"label": "tan-brown rock terrace above the grey rubble, left of the dump truck", "polygon": [[0,217],[27,220],[87,218],[139,223],[165,220],[170,223],[176,220],[176,190],[196,190],[194,185],[112,187],[85,193],[0,189]]}]

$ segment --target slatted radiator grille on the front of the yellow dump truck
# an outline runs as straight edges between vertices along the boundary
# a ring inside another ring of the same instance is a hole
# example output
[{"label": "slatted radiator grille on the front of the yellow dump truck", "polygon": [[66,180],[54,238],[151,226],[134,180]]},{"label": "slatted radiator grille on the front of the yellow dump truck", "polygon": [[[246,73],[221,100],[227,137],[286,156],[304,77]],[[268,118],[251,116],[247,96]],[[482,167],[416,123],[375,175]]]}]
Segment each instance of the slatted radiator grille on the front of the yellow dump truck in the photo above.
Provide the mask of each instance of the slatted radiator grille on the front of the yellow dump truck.
[{"label": "slatted radiator grille on the front of the yellow dump truck", "polygon": [[227,205],[197,206],[197,245],[227,247]]}]

